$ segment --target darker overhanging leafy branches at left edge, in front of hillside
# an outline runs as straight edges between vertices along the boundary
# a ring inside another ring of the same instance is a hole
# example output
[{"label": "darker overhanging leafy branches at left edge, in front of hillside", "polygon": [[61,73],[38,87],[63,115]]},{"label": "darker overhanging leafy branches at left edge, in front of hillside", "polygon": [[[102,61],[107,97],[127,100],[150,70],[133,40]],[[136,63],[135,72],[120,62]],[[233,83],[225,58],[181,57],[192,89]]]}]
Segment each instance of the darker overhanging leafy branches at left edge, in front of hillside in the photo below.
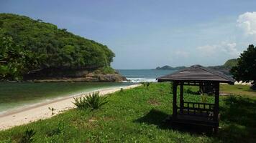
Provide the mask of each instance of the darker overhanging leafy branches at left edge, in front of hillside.
[{"label": "darker overhanging leafy branches at left edge, in front of hillside", "polygon": [[[0,29],[1,30],[1,29]],[[22,79],[22,74],[35,67],[36,57],[14,43],[12,37],[0,33],[0,79]]]}]

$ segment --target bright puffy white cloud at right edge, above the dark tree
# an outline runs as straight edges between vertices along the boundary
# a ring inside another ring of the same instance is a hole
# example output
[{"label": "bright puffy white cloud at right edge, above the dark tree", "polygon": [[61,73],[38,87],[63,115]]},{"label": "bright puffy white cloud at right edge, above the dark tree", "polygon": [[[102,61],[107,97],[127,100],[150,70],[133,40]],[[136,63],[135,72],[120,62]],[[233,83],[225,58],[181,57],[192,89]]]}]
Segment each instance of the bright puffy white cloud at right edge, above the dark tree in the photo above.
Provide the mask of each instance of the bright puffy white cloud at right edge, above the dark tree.
[{"label": "bright puffy white cloud at right edge, above the dark tree", "polygon": [[245,35],[256,36],[256,11],[239,15],[237,26],[244,31]]}]

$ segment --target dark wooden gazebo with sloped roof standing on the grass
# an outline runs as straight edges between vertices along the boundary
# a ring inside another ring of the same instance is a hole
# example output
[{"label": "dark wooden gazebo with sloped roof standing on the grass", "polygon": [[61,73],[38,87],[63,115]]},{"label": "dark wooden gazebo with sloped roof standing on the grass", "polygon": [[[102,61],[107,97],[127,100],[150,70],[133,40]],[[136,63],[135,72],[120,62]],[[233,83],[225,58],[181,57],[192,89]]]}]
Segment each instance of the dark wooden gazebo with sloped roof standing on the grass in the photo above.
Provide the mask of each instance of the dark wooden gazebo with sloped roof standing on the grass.
[{"label": "dark wooden gazebo with sloped roof standing on the grass", "polygon": [[[186,69],[157,78],[157,82],[173,82],[173,123],[196,124],[219,128],[219,84],[234,84],[232,77],[227,77],[220,71],[194,65]],[[183,86],[208,87],[214,94],[214,104],[200,102],[185,102]],[[177,87],[180,86],[180,106],[177,105]]]}]

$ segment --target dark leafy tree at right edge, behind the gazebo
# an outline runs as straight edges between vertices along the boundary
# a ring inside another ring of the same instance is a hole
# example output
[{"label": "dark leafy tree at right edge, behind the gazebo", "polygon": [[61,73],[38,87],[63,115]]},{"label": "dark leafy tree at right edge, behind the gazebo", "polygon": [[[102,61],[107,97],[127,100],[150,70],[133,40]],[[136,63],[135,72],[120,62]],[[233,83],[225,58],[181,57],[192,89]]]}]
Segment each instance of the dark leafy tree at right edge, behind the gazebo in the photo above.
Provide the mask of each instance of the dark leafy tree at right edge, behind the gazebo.
[{"label": "dark leafy tree at right edge, behind the gazebo", "polygon": [[249,45],[230,72],[237,81],[252,82],[252,89],[256,89],[256,46]]}]

